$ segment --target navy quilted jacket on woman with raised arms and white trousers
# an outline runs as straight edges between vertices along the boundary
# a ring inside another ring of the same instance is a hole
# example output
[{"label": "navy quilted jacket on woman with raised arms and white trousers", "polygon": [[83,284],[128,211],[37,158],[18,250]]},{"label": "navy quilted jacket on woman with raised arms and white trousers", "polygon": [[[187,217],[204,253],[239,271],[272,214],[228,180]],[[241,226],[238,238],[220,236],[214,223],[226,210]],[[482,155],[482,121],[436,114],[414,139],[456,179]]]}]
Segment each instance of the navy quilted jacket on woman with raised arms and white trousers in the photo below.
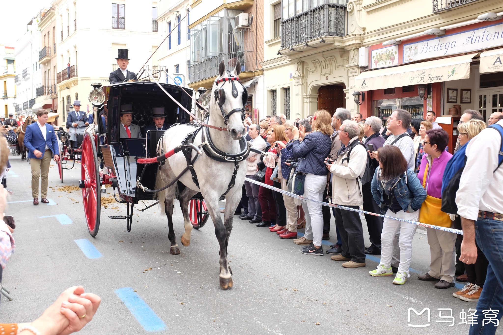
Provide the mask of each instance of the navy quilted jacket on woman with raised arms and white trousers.
[{"label": "navy quilted jacket on woman with raised arms and white trousers", "polygon": [[293,157],[299,158],[297,171],[318,176],[327,175],[328,170],[324,160],[330,154],[330,148],[330,135],[324,135],[321,132],[307,134],[302,143],[297,140],[293,141]]}]

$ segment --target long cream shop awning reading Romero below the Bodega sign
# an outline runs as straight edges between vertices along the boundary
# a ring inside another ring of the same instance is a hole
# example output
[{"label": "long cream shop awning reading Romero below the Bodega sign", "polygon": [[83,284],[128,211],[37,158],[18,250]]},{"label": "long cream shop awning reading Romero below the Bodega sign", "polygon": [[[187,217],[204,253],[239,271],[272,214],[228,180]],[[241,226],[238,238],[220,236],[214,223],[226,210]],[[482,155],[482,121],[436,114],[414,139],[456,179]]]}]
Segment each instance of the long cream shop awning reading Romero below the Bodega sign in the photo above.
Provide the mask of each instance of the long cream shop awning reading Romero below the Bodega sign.
[{"label": "long cream shop awning reading Romero below the Bodega sign", "polygon": [[470,77],[471,59],[477,54],[472,53],[363,72],[355,78],[355,90],[370,91],[373,89],[466,79]]}]

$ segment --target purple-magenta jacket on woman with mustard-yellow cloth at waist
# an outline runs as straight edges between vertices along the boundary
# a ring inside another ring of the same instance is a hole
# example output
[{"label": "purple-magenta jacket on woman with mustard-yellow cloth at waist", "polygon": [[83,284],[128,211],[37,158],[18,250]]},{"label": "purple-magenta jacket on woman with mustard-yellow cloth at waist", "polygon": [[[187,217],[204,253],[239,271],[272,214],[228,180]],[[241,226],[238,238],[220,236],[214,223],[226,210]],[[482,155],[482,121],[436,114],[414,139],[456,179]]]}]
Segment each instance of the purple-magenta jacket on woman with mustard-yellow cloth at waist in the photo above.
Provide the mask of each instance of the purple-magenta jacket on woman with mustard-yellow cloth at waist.
[{"label": "purple-magenta jacket on woman with mustard-yellow cloth at waist", "polygon": [[432,164],[432,157],[430,155],[425,154],[423,156],[417,178],[419,178],[421,185],[423,185],[423,176],[425,175],[426,165],[428,164],[430,171],[427,173],[426,177],[426,194],[436,198],[442,197],[442,177],[444,176],[445,167],[451,157],[452,154],[448,151],[443,151],[439,158],[433,159]]}]

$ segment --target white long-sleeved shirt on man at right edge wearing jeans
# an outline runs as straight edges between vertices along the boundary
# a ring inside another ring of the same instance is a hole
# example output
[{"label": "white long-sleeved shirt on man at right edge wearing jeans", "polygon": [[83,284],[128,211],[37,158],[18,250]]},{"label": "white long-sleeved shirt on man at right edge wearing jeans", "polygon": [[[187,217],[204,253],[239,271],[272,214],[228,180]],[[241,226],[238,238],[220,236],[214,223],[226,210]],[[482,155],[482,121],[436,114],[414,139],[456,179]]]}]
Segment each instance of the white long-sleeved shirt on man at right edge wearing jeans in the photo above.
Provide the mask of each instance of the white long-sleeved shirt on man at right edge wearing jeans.
[{"label": "white long-sleeved shirt on man at right edge wearing jeans", "polygon": [[[503,120],[497,124],[503,127]],[[456,193],[460,216],[477,220],[479,210],[503,214],[503,164],[496,170],[500,149],[501,137],[491,128],[468,143],[467,161]]]}]

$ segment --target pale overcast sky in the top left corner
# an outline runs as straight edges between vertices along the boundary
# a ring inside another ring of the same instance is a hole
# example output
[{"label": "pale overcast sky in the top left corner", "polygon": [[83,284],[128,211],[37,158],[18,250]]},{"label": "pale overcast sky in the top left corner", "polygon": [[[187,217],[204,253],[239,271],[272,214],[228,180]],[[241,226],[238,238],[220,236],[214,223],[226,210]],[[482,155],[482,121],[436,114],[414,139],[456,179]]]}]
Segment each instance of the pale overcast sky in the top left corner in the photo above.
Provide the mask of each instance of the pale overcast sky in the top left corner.
[{"label": "pale overcast sky in the top left corner", "polygon": [[51,7],[51,0],[0,0],[0,44],[15,46],[26,32],[26,25],[43,8]]}]

